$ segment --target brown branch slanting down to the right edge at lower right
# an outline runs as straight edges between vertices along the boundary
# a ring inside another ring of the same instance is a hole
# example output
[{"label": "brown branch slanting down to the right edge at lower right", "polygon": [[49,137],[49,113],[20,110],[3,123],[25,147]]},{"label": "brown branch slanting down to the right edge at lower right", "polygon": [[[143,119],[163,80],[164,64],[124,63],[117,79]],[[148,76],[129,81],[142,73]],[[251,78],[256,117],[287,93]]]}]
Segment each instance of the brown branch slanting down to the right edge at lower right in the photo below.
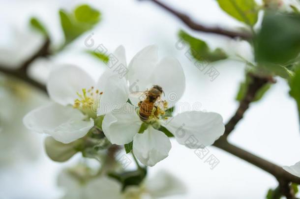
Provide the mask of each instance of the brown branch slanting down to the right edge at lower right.
[{"label": "brown branch slanting down to the right edge at lower right", "polygon": [[255,165],[259,168],[261,168],[264,171],[269,172],[273,176],[275,176],[277,179],[284,180],[287,182],[295,182],[297,184],[300,184],[300,178],[292,175],[291,173],[285,171],[281,167],[263,159],[260,158],[244,149],[241,149],[238,146],[235,146],[231,143],[229,143],[226,140],[226,137],[221,137],[219,140],[217,140],[213,146],[220,148],[224,151],[227,151],[249,163],[252,165]]}]

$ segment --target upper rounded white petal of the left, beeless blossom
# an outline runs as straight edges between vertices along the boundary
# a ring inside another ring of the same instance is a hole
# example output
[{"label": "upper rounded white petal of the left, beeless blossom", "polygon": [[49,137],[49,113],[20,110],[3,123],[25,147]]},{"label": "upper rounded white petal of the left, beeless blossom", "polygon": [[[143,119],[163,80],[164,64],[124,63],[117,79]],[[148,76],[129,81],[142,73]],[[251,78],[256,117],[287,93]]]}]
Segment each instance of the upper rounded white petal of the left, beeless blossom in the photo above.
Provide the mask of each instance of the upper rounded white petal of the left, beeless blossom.
[{"label": "upper rounded white petal of the left, beeless blossom", "polygon": [[74,65],[64,65],[54,69],[48,79],[47,90],[50,97],[61,105],[73,104],[77,92],[89,89],[95,82],[83,69]]}]

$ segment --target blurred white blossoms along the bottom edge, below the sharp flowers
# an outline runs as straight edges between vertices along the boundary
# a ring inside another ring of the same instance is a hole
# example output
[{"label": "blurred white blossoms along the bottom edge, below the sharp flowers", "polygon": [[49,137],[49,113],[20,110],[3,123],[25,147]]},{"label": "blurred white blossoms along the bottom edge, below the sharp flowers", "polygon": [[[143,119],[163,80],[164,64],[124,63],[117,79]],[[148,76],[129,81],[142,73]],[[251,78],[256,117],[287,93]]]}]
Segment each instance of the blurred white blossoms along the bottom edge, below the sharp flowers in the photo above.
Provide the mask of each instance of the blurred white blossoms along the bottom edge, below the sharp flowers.
[{"label": "blurred white blossoms along the bottom edge, below the sharp flowers", "polygon": [[140,185],[127,186],[121,191],[120,182],[105,175],[90,175],[83,166],[63,170],[58,177],[62,199],[158,199],[186,193],[183,182],[167,171],[158,171]]}]

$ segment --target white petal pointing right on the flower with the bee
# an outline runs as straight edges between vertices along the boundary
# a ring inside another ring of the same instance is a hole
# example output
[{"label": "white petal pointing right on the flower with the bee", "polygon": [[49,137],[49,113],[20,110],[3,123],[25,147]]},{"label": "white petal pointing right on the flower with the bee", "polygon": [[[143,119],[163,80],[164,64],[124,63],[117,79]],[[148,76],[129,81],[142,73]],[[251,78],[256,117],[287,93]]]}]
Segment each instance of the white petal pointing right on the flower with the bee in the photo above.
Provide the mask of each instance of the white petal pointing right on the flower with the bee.
[{"label": "white petal pointing right on the flower with the bee", "polygon": [[217,113],[186,112],[169,118],[165,126],[180,144],[203,148],[213,144],[225,131],[223,118]]}]

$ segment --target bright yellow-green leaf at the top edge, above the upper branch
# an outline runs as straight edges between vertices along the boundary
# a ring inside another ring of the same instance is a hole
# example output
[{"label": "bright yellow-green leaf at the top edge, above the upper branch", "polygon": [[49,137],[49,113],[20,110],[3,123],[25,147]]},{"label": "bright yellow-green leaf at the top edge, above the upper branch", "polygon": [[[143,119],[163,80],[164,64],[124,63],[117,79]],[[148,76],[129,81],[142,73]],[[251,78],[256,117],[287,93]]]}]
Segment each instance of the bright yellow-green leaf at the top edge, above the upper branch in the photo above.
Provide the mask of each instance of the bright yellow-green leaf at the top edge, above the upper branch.
[{"label": "bright yellow-green leaf at the top edge, above the upper branch", "polygon": [[219,6],[230,16],[247,25],[254,26],[258,19],[255,0],[217,0]]}]

